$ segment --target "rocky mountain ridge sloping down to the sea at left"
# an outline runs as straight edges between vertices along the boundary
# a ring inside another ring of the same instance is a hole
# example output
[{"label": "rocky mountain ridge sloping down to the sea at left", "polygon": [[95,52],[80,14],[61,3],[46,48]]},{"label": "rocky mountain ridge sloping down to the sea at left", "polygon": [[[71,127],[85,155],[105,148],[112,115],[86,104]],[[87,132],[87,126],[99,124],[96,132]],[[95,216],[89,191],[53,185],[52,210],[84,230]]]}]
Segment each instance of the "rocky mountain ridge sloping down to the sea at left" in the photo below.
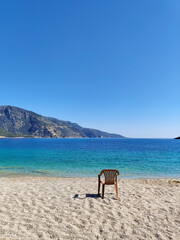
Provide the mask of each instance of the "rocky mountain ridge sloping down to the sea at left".
[{"label": "rocky mountain ridge sloping down to the sea at left", "polygon": [[43,117],[14,106],[0,106],[0,136],[39,138],[124,138],[83,128],[76,123]]}]

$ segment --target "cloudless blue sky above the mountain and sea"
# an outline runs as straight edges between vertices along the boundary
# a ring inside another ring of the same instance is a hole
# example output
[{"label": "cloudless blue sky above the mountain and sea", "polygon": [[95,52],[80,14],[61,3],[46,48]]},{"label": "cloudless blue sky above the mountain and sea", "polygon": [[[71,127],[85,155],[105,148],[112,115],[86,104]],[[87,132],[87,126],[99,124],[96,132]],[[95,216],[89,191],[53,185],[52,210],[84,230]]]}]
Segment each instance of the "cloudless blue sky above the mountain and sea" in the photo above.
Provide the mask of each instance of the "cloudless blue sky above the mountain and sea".
[{"label": "cloudless blue sky above the mountain and sea", "polygon": [[180,135],[179,0],[1,0],[0,105]]}]

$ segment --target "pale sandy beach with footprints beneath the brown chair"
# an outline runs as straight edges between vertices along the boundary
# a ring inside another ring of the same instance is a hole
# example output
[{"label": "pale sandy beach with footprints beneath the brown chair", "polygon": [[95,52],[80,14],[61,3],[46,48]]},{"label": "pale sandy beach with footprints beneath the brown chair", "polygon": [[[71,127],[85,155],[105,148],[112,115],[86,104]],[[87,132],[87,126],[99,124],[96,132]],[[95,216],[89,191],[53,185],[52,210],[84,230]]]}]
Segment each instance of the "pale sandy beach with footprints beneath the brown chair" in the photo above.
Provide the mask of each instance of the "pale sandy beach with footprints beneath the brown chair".
[{"label": "pale sandy beach with footprints beneath the brown chair", "polygon": [[97,179],[0,178],[0,239],[180,239],[180,183],[119,180],[97,197]]}]

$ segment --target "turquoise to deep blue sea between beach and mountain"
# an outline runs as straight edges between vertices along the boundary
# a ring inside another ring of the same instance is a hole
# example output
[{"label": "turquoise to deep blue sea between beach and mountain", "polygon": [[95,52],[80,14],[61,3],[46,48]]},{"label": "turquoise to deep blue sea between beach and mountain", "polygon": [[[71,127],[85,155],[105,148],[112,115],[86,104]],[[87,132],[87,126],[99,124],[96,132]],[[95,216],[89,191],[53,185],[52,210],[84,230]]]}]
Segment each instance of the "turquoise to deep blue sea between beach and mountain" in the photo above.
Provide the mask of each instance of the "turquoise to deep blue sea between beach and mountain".
[{"label": "turquoise to deep blue sea between beach and mountain", "polygon": [[180,140],[0,139],[0,176],[96,177],[104,168],[180,178]]}]

